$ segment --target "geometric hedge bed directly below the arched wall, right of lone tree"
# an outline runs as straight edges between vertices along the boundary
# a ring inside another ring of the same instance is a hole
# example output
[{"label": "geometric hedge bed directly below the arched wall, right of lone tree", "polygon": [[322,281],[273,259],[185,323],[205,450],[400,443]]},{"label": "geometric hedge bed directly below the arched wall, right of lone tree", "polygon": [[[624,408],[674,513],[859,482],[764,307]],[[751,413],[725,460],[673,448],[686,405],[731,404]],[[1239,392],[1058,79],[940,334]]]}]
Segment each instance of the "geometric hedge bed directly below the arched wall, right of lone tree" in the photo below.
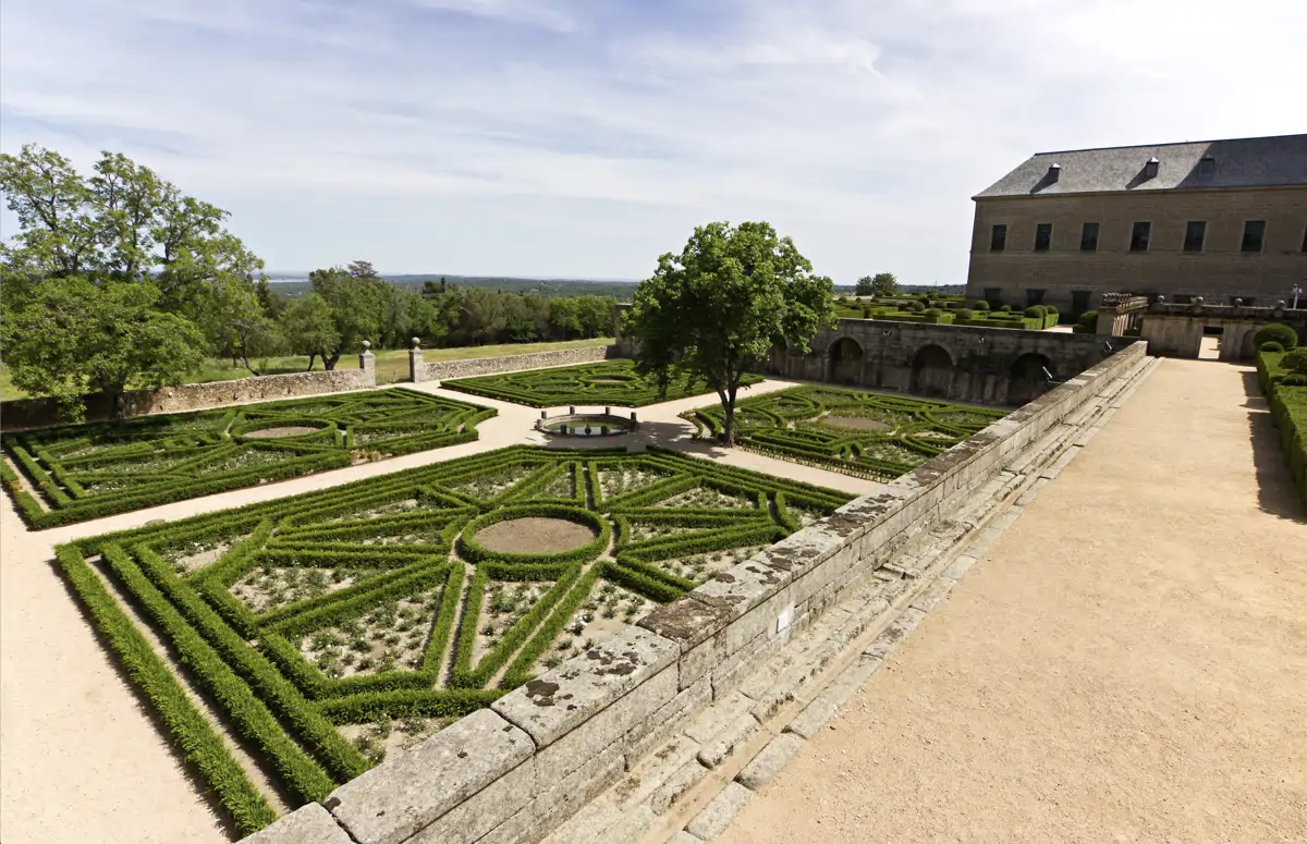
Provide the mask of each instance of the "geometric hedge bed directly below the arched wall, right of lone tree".
[{"label": "geometric hedge bed directly below the arched wall, right of lone tree", "polygon": [[[720,408],[682,414],[719,435]],[[893,479],[1006,415],[924,398],[835,387],[796,387],[736,405],[736,442],[846,474]]]}]

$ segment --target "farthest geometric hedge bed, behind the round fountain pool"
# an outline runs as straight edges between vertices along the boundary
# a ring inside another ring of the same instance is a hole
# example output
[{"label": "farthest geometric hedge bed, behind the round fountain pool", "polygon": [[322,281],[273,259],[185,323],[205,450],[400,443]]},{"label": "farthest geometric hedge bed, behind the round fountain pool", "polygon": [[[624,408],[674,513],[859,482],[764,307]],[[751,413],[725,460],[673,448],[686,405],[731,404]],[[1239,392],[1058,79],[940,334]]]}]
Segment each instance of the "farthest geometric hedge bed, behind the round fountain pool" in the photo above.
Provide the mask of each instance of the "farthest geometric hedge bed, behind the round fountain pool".
[{"label": "farthest geometric hedge bed, behind the round fountain pool", "polygon": [[[757,375],[746,375],[740,383],[757,384],[761,380],[762,378]],[[691,384],[681,378],[672,380],[667,385],[667,393],[660,395],[657,381],[654,378],[637,375],[635,365],[623,359],[563,366],[553,370],[460,378],[442,381],[440,385],[532,408],[562,405],[642,408],[660,401],[710,392],[706,384]]]}]

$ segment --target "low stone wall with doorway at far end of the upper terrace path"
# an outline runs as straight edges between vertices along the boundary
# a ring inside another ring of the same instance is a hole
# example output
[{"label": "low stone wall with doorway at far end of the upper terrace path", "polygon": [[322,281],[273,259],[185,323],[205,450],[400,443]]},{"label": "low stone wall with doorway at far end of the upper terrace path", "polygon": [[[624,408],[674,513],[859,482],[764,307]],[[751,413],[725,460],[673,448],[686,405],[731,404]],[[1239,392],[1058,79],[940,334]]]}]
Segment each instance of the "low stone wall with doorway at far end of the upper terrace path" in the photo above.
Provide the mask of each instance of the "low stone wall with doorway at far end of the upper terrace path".
[{"label": "low stone wall with doorway at far end of the upper terrace path", "polygon": [[1249,361],[1255,357],[1253,334],[1266,323],[1282,323],[1307,342],[1307,311],[1233,307],[1223,304],[1153,303],[1144,312],[1140,336],[1153,354],[1197,358],[1202,338],[1219,337],[1219,359]]}]

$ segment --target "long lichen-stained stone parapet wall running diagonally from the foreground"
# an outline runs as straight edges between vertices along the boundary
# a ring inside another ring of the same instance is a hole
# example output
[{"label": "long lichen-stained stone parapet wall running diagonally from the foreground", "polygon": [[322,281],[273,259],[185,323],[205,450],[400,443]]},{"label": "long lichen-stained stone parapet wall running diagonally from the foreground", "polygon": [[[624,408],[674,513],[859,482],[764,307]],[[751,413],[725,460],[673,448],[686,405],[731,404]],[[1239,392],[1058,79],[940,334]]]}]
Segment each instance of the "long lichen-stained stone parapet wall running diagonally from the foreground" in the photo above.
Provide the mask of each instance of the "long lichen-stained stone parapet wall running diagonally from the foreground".
[{"label": "long lichen-stained stone parapet wall running diagonally from the foreground", "polygon": [[538,841],[1145,353],[1127,346],[252,841]]}]

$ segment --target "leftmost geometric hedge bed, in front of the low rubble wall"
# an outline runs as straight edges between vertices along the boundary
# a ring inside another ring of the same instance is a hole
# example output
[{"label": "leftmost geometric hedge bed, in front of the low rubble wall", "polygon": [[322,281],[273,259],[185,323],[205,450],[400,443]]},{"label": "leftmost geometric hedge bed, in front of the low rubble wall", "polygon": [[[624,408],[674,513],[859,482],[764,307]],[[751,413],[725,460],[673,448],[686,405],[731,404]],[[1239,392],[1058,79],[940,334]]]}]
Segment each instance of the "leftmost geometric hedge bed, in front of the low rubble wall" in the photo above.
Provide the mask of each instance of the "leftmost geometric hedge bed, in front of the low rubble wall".
[{"label": "leftmost geometric hedge bed, in front of the low rubble wall", "polygon": [[8,466],[4,482],[48,528],[471,442],[494,414],[391,388],[43,429],[3,440],[41,500]]}]

